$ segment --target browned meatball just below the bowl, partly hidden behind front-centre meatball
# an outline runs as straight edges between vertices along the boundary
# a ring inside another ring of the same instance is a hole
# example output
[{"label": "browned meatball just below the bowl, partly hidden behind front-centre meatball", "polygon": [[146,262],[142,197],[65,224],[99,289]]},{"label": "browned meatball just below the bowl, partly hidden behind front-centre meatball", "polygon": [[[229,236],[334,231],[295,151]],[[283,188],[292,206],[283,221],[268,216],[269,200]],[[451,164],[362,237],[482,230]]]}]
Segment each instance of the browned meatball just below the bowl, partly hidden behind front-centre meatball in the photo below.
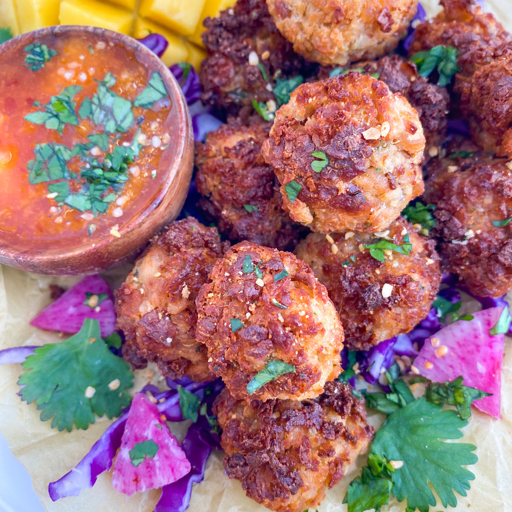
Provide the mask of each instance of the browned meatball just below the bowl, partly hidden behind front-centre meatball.
[{"label": "browned meatball just below the bowl, partly hidden behind front-centre meatball", "polygon": [[206,347],[196,341],[195,300],[217,258],[229,248],[217,229],[193,217],[169,224],[154,237],[116,290],[123,356],[135,368],[157,362],[162,375],[196,382],[215,379]]}]

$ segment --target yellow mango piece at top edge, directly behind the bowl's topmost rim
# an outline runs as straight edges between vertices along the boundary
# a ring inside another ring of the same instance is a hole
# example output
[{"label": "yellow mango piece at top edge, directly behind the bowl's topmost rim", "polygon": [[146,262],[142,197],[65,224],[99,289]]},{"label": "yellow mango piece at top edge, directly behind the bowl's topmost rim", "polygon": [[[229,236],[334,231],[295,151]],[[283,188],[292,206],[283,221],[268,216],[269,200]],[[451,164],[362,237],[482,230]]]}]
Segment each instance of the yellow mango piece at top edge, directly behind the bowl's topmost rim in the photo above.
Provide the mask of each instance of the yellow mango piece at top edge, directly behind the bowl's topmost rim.
[{"label": "yellow mango piece at top edge, directly behind the bowl's topmost rim", "polygon": [[133,14],[98,0],[63,0],[59,20],[61,25],[91,25],[130,34]]}]

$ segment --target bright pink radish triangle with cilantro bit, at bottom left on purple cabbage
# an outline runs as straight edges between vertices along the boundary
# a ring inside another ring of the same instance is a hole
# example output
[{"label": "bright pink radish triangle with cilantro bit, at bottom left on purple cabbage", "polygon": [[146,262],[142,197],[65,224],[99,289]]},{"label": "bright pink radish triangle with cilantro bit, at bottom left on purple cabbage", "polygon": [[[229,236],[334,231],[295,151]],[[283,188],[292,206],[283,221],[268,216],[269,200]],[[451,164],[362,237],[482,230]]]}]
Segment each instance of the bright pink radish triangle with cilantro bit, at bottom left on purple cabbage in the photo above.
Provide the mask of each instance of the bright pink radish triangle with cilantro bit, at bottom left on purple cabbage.
[{"label": "bright pink radish triangle with cilantro bit, at bottom left on purple cabbage", "polygon": [[190,472],[178,440],[169,432],[156,404],[143,393],[132,401],[112,485],[127,496],[175,482]]}]

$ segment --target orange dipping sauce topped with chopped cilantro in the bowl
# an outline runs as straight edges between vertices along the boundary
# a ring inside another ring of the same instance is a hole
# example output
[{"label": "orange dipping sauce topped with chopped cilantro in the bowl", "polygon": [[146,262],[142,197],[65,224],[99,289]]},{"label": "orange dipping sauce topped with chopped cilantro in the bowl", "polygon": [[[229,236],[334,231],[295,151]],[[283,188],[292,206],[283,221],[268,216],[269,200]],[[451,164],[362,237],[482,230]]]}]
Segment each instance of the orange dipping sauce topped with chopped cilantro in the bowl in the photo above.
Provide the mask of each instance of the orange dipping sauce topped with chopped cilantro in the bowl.
[{"label": "orange dipping sauce topped with chopped cilantro in the bowl", "polygon": [[119,237],[175,156],[172,101],[120,42],[37,41],[2,54],[0,242],[44,252]]}]

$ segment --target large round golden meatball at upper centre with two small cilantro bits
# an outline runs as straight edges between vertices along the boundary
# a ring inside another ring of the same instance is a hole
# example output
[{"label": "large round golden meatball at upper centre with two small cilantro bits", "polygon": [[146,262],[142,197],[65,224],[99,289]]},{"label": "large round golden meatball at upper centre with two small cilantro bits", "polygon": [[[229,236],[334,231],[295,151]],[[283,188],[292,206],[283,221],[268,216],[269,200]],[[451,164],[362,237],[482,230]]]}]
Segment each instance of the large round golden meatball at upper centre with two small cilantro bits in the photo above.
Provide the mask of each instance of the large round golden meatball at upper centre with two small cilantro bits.
[{"label": "large round golden meatball at upper centre with two small cilantro bits", "polygon": [[422,193],[424,146],[409,102],[350,71],[295,89],[262,154],[293,220],[324,233],[373,233]]}]

